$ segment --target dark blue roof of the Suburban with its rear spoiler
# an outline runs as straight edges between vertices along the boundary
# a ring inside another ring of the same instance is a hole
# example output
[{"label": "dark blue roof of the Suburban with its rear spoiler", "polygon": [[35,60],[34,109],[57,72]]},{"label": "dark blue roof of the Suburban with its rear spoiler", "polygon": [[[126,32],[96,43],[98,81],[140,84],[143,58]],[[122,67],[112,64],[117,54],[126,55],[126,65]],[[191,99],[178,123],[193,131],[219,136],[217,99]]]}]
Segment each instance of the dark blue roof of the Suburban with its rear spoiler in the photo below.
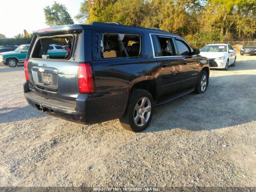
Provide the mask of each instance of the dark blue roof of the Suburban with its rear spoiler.
[{"label": "dark blue roof of the Suburban with its rear spoiler", "polygon": [[[120,31],[137,31],[137,32],[157,32],[163,34],[171,34],[164,30],[159,30],[157,28],[144,28],[144,27],[136,27],[136,26],[128,26],[122,25],[118,22],[91,22],[90,24],[73,24],[73,25],[62,25],[62,26],[55,26],[51,28],[44,28],[38,31],[33,31],[33,34],[41,34],[41,33],[52,33],[54,31],[68,31],[68,30],[83,30],[83,29],[101,29],[101,30],[120,30]],[[174,36],[178,36],[176,34],[171,34]]]}]

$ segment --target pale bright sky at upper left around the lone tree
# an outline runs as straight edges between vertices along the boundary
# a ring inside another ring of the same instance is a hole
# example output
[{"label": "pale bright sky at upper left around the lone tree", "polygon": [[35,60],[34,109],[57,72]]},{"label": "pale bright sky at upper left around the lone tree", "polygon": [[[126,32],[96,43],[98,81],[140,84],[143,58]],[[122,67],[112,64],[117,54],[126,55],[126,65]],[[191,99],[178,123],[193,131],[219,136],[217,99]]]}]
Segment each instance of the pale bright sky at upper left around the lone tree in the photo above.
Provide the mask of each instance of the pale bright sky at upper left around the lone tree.
[{"label": "pale bright sky at upper left around the lone tree", "polygon": [[[74,23],[77,24],[78,21],[74,19],[74,16],[78,14],[83,0],[55,1],[66,6]],[[11,38],[16,34],[23,34],[24,29],[31,33],[47,28],[43,8],[53,3],[54,0],[0,0],[0,33]]]}]

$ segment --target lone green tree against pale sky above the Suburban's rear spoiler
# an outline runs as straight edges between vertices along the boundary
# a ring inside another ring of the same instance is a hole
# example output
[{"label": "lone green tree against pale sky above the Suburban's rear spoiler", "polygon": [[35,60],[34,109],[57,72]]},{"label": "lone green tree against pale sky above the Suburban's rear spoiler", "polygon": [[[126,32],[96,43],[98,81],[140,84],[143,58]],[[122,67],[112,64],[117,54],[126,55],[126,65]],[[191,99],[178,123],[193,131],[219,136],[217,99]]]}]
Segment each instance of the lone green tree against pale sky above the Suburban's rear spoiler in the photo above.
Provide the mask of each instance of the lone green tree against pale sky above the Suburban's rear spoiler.
[{"label": "lone green tree against pale sky above the Suburban's rear spoiler", "polygon": [[67,8],[57,2],[44,8],[44,16],[48,26],[74,24]]}]

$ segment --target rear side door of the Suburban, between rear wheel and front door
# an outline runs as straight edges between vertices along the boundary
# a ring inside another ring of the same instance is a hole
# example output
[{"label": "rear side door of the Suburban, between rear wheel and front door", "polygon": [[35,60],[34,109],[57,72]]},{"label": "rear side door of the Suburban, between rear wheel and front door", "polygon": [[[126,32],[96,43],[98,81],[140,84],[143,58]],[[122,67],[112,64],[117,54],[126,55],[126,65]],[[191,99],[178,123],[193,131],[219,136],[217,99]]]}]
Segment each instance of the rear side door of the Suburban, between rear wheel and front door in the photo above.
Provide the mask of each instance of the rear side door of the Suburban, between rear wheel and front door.
[{"label": "rear side door of the Suburban, between rear wheel and front door", "polygon": [[159,94],[163,97],[180,89],[182,66],[171,36],[151,34],[151,38],[159,66]]}]

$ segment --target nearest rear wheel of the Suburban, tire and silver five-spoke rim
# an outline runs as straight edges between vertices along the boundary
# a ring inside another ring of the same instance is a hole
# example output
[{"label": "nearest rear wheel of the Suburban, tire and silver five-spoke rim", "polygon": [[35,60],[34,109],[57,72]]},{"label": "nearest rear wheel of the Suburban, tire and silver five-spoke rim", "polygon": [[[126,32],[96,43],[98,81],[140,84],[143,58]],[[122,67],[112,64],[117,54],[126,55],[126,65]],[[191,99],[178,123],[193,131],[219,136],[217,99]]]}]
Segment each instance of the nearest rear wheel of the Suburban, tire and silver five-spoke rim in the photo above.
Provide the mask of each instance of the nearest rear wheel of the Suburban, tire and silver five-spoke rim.
[{"label": "nearest rear wheel of the Suburban, tire and silver five-spoke rim", "polygon": [[133,132],[145,130],[152,119],[153,102],[150,92],[142,89],[132,89],[124,116],[119,119],[121,125]]}]

